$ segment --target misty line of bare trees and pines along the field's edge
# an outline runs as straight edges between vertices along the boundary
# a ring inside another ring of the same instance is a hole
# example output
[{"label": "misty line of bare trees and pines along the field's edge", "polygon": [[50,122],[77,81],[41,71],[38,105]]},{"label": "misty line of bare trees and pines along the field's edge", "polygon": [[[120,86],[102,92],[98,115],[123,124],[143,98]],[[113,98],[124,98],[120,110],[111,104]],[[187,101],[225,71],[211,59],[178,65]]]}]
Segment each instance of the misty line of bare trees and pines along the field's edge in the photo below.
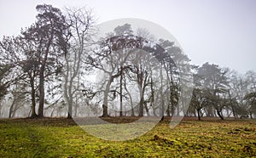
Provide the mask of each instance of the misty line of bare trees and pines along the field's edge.
[{"label": "misty line of bare trees and pines along the field's edge", "polygon": [[36,9],[34,24],[0,42],[1,116],[255,116],[255,71],[190,65],[175,42],[130,24],[95,39],[87,8]]}]

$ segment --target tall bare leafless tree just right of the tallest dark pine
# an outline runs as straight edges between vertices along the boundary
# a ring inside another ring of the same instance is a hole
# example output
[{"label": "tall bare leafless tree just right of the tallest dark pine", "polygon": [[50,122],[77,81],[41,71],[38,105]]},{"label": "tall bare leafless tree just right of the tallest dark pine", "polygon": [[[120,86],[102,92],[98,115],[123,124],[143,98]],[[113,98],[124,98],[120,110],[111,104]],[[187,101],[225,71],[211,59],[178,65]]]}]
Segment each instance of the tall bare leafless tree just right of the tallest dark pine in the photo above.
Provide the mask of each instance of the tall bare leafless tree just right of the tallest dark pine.
[{"label": "tall bare leafless tree just right of the tallest dark pine", "polygon": [[[84,59],[87,57],[86,51],[88,51],[88,46],[90,46],[90,36],[93,33],[91,28],[94,25],[94,20],[91,11],[86,8],[67,8],[66,14],[66,22],[69,26],[69,31],[66,35],[68,45],[63,45],[63,50],[66,54],[65,71],[63,71],[63,93],[68,107],[67,117],[72,118],[73,102],[75,96],[78,95],[79,84],[81,84],[79,82],[80,76],[83,70],[88,70],[88,67],[83,67],[82,65],[84,65]],[[81,68],[83,69],[81,70]],[[75,104],[75,106],[77,106],[77,104]]]}]

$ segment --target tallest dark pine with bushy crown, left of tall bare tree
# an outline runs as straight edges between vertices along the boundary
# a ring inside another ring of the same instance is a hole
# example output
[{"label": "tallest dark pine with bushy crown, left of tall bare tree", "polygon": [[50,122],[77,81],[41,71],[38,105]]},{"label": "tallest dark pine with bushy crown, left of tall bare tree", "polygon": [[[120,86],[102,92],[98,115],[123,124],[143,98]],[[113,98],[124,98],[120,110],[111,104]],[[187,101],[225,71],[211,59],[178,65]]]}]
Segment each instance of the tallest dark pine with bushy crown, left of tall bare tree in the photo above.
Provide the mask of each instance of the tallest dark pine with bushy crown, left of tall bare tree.
[{"label": "tallest dark pine with bushy crown, left of tall bare tree", "polygon": [[37,21],[35,25],[23,32],[23,36],[37,44],[36,54],[38,54],[40,63],[38,116],[43,117],[45,77],[60,65],[58,58],[64,54],[60,46],[65,42],[63,32],[67,31],[67,25],[59,8],[47,4],[38,5],[36,8],[38,10]]}]

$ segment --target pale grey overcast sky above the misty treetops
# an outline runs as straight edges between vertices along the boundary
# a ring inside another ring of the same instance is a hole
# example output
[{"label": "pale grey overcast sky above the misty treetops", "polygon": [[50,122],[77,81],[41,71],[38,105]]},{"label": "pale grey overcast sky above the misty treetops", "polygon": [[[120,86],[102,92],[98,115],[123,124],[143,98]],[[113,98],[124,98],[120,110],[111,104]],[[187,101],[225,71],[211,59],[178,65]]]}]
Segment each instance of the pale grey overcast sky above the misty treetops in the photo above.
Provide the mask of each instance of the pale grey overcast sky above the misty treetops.
[{"label": "pale grey overcast sky above the misty treetops", "polygon": [[256,71],[256,0],[0,0],[1,39],[31,25],[41,3],[93,8],[98,23],[150,20],[177,38],[193,64]]}]

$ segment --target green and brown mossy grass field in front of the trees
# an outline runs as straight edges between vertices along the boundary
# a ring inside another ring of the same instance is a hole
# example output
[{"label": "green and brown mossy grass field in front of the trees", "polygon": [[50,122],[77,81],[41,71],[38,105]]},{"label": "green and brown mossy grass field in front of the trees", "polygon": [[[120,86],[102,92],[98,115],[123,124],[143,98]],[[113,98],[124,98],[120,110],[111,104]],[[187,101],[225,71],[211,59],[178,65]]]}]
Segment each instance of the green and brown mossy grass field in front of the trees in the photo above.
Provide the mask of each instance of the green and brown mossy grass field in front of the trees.
[{"label": "green and brown mossy grass field in front of the trees", "polygon": [[64,118],[0,120],[1,157],[255,157],[255,120],[160,122],[142,137],[111,142]]}]

